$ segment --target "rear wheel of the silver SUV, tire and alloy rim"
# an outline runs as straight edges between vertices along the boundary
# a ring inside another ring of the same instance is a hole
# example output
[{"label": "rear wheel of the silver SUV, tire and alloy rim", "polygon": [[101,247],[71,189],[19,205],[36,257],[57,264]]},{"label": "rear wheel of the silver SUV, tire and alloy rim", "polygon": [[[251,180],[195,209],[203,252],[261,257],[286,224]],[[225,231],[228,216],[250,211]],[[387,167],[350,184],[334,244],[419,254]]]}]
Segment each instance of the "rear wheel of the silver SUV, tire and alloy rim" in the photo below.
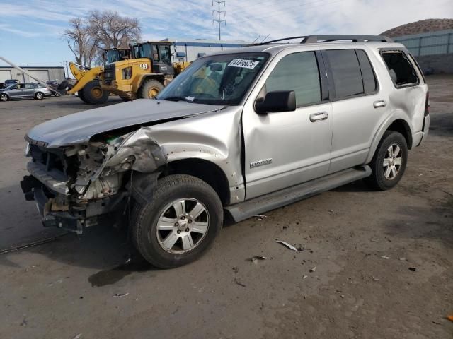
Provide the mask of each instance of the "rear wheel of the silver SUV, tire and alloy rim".
[{"label": "rear wheel of the silver SUV, tire and alloy rim", "polygon": [[406,138],[396,131],[386,131],[382,136],[372,162],[372,175],[365,182],[373,189],[385,191],[398,184],[408,161]]}]

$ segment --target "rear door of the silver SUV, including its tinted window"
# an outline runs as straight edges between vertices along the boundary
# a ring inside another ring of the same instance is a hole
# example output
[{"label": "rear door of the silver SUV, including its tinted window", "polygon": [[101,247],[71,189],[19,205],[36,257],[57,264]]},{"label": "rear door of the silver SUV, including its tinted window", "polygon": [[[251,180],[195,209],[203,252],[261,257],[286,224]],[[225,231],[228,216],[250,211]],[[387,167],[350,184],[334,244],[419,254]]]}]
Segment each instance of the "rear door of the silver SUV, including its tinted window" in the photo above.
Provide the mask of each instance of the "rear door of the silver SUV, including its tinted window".
[{"label": "rear door of the silver SUV, including its tinted window", "polygon": [[362,165],[377,129],[389,114],[388,98],[365,49],[326,49],[332,100],[332,153],[329,173]]}]

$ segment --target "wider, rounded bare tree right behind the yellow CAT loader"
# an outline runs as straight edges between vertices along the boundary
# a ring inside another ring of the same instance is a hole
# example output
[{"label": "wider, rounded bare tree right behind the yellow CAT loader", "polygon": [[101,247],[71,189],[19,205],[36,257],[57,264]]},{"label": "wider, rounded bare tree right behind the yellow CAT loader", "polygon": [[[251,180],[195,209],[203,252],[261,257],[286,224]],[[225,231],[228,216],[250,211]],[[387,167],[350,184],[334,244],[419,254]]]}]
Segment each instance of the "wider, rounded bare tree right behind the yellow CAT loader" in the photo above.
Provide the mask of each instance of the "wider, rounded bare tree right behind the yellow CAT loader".
[{"label": "wider, rounded bare tree right behind the yellow CAT loader", "polygon": [[113,11],[91,11],[88,13],[90,35],[104,48],[127,47],[139,40],[141,28],[137,18],[120,16]]}]

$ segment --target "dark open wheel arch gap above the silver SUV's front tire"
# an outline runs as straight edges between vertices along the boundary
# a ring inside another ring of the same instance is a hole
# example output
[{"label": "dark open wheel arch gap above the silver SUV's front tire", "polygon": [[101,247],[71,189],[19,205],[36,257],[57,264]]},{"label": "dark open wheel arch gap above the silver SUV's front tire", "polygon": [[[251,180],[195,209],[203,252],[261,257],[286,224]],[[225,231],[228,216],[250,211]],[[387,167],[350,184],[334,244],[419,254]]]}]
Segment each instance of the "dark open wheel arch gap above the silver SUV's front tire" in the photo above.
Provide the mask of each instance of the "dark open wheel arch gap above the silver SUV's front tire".
[{"label": "dark open wheel arch gap above the silver SUV's front tire", "polygon": [[161,172],[159,178],[166,177],[171,174],[188,174],[209,184],[222,201],[222,205],[226,206],[230,201],[230,191],[228,179],[222,169],[210,162],[209,160],[199,158],[180,159],[168,162],[164,172]]}]

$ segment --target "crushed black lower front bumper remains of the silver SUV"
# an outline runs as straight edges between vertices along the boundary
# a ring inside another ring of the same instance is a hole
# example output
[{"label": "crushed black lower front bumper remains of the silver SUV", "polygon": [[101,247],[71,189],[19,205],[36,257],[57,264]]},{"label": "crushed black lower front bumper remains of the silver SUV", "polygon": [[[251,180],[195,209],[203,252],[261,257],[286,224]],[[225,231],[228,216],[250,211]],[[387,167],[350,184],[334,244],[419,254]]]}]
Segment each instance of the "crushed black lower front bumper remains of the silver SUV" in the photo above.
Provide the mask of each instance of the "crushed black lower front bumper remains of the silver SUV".
[{"label": "crushed black lower front bumper remains of the silver SUV", "polygon": [[77,234],[82,234],[86,227],[98,225],[108,215],[113,213],[123,215],[127,206],[128,194],[125,191],[84,204],[61,205],[55,199],[58,192],[50,191],[31,175],[23,177],[21,189],[25,200],[35,201],[44,227],[58,227]]}]

